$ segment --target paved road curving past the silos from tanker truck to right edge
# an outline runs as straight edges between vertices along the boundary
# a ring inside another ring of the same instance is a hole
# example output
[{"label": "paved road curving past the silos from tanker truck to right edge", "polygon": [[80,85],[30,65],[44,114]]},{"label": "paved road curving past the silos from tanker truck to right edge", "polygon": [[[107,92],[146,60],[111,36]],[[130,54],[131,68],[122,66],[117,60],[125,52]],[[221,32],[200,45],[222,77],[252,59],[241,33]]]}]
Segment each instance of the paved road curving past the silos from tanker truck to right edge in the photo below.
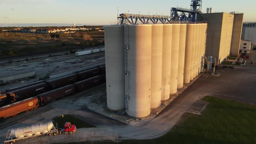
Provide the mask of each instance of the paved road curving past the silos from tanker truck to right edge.
[{"label": "paved road curving past the silos from tanker truck to right edge", "polygon": [[[250,54],[256,61],[256,52]],[[249,61],[251,60],[249,59]],[[256,104],[256,66],[237,66],[234,70],[219,69],[220,76],[201,76],[177,97],[167,108],[148,124],[141,126],[105,126],[99,128],[81,128],[74,135],[58,137],[38,137],[28,143],[67,143],[81,141],[152,139],[166,134],[179,121],[181,116],[197,99],[203,96],[217,96]]]}]

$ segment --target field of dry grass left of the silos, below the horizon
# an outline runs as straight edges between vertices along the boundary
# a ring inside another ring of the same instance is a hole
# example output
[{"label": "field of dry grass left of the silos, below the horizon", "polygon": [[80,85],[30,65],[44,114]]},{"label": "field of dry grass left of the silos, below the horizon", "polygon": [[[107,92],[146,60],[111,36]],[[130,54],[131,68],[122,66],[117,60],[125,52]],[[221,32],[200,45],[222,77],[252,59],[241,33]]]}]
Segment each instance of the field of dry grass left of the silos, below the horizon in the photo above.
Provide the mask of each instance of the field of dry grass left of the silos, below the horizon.
[{"label": "field of dry grass left of the silos, below the horizon", "polygon": [[0,59],[104,45],[104,32],[57,35],[0,32]]}]

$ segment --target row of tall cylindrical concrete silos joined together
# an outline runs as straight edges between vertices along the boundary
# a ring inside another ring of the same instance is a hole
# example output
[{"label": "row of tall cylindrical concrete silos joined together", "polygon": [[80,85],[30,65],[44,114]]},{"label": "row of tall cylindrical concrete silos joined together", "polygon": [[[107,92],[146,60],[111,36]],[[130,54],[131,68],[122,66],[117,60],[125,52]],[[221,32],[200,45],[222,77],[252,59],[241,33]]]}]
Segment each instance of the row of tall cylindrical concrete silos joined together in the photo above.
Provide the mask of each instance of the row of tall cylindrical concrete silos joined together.
[{"label": "row of tall cylindrical concrete silos joined together", "polygon": [[105,26],[107,106],[150,115],[202,70],[207,24]]}]

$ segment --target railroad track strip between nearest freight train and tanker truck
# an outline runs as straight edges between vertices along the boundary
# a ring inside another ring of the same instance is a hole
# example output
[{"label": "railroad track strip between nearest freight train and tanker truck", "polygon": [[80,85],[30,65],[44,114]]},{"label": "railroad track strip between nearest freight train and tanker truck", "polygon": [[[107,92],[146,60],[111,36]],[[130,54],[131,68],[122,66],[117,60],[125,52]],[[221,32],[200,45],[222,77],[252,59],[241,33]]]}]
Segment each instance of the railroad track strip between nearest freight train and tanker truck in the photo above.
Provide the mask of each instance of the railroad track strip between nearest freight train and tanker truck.
[{"label": "railroad track strip between nearest freight train and tanker truck", "polygon": [[52,108],[58,107],[62,104],[65,104],[69,101],[73,101],[73,100],[78,99],[82,96],[89,95],[92,92],[103,89],[105,87],[106,87],[105,83],[100,84],[100,85],[96,85],[95,87],[89,88],[89,89],[87,89],[85,91],[82,91],[82,92],[79,92],[79,93],[76,93],[75,95],[70,95],[68,97],[64,97],[64,98],[62,98],[58,101],[53,101],[52,103],[49,103],[48,105],[45,105],[45,106],[42,106],[42,107],[39,106],[39,108],[37,108],[33,111],[28,111],[26,113],[16,115],[15,117],[5,119],[5,121],[0,122],[0,129],[7,128],[8,126],[10,126],[12,124],[15,124],[17,122],[25,121],[29,118],[32,118],[33,116],[39,115],[39,114],[41,114],[45,111],[49,111]]}]

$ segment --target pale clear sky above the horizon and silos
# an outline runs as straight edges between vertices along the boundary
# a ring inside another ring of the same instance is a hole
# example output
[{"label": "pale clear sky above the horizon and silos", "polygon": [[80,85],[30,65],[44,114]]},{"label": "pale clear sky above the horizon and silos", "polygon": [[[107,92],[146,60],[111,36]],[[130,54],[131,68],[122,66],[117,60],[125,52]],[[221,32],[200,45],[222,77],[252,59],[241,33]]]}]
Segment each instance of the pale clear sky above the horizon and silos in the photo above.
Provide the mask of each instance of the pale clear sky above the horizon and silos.
[{"label": "pale clear sky above the horizon and silos", "polygon": [[[0,0],[0,26],[26,23],[109,25],[117,13],[170,15],[171,7],[190,8],[191,0]],[[242,4],[241,4],[242,3]],[[256,0],[202,0],[202,11],[236,11],[256,22]],[[129,11],[129,12],[128,12]]]}]

